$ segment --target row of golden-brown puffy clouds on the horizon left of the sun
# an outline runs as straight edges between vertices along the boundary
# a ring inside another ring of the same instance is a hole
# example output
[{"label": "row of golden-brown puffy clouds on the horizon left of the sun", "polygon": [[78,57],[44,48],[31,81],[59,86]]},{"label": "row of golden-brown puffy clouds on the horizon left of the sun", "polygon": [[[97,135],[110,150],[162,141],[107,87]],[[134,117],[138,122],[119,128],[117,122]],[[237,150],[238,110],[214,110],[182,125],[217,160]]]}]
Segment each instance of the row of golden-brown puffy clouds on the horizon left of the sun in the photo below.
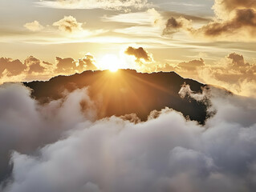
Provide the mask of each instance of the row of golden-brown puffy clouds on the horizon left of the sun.
[{"label": "row of golden-brown puffy clouds on the horizon left of the sun", "polygon": [[0,84],[4,82],[23,82],[47,80],[59,74],[75,74],[84,70],[98,70],[95,58],[86,54],[83,58],[55,58],[55,64],[42,61],[34,56],[24,62],[12,58],[0,58]]}]

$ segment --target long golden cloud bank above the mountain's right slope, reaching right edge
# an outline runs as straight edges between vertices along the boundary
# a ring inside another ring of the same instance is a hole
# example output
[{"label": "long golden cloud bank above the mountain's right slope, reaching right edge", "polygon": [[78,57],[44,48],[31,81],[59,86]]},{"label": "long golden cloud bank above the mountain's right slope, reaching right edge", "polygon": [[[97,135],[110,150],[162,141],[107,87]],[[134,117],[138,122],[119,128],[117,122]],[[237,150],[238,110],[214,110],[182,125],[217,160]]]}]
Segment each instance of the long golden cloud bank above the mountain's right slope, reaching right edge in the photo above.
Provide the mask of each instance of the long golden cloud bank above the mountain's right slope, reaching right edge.
[{"label": "long golden cloud bank above the mountain's right slope, reaching right edge", "polygon": [[200,58],[177,64],[158,64],[155,70],[175,71],[185,78],[225,87],[234,94],[254,97],[256,93],[256,64],[246,62],[242,54],[228,54],[214,65]]}]

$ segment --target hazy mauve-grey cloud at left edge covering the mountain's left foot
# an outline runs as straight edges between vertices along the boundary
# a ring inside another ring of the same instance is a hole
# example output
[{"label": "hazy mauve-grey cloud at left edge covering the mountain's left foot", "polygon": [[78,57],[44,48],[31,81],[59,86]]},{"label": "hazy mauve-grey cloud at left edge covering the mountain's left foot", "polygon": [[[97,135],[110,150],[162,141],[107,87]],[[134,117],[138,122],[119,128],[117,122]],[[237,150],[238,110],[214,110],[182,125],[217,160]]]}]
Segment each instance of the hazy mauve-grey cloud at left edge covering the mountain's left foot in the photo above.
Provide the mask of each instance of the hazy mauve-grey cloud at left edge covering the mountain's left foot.
[{"label": "hazy mauve-grey cloud at left edge covering the mountain's left foot", "polygon": [[[86,114],[81,111],[82,101],[90,109],[84,110]],[[74,123],[85,123],[83,120],[95,117],[87,89],[63,93],[62,99],[39,106],[24,86],[4,84],[0,86],[0,105],[1,182],[10,172],[8,161],[12,150],[32,154],[39,146],[58,141],[63,130],[69,130]]]}]

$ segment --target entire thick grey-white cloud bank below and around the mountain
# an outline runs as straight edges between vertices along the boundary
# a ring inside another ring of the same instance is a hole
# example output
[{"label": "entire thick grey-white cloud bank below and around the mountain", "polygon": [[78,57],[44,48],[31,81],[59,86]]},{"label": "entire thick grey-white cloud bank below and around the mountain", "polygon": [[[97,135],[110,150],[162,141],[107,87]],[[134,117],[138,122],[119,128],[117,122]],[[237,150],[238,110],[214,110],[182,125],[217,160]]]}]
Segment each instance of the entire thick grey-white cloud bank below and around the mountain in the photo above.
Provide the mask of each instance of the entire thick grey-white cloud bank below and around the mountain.
[{"label": "entire thick grey-white cloud bank below and around the mountain", "polygon": [[[18,96],[14,97],[14,91]],[[255,99],[213,89],[211,107],[217,113],[205,126],[170,109],[162,110],[157,118],[134,124],[115,117],[88,121],[84,115],[91,110],[81,114],[79,108],[80,99],[87,97],[83,91],[81,97],[78,93],[66,104],[51,102],[51,107],[44,111],[24,87],[1,89],[0,101],[5,105],[0,111],[5,117],[0,116],[4,120],[0,121],[0,130],[9,130],[10,134],[0,137],[20,137],[11,129],[30,139],[33,137],[28,136],[40,129],[50,130],[48,133],[63,131],[58,141],[55,138],[47,146],[39,144],[35,137],[40,147],[33,149],[33,153],[10,147],[9,150],[15,150],[11,155],[13,170],[2,191],[256,190]],[[17,109],[16,113],[12,109]],[[49,128],[49,124],[54,126]],[[36,135],[44,138],[42,134]],[[6,146],[6,141],[14,140],[0,141]],[[30,140],[23,142],[30,146]]]}]

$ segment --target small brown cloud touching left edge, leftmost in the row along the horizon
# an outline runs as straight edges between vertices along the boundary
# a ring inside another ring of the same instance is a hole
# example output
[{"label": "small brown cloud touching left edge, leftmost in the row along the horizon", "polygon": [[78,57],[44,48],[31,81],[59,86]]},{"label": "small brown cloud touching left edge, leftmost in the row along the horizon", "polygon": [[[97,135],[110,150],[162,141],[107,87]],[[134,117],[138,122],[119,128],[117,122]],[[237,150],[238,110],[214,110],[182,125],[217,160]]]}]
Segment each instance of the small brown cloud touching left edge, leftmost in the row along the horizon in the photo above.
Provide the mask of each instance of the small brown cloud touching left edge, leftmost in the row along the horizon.
[{"label": "small brown cloud touching left edge, leftmost in the row along the horizon", "polygon": [[0,58],[0,77],[4,72],[8,77],[22,74],[26,70],[26,65],[22,64],[18,59]]}]

